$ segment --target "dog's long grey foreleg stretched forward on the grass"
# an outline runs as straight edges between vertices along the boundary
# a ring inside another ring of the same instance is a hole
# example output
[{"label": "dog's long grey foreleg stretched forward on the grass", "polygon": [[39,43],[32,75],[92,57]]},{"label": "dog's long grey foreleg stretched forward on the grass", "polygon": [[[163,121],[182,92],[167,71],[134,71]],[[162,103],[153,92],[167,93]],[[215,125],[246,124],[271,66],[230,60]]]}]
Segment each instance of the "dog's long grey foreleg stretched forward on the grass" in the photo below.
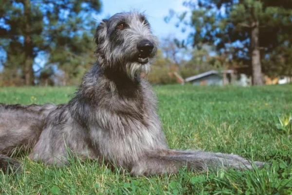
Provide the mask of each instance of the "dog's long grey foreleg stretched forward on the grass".
[{"label": "dog's long grey foreleg stretched forward on the grass", "polygon": [[252,170],[262,167],[263,162],[251,162],[241,156],[232,154],[163,150],[149,152],[132,167],[133,175],[152,175],[176,173],[186,166],[192,171],[218,171],[219,169],[232,168],[237,170]]}]

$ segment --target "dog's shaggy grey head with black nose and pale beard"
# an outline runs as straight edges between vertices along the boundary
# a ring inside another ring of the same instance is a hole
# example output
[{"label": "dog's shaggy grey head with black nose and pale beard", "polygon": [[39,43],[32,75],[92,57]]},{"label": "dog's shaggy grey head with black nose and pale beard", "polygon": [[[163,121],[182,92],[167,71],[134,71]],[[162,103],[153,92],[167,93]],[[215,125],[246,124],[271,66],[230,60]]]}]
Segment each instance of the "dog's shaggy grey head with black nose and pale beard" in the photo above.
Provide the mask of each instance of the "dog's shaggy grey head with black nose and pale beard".
[{"label": "dog's shaggy grey head with black nose and pale beard", "polygon": [[103,20],[96,28],[95,42],[96,55],[104,60],[101,65],[120,68],[130,78],[150,71],[158,45],[145,15],[137,12]]}]

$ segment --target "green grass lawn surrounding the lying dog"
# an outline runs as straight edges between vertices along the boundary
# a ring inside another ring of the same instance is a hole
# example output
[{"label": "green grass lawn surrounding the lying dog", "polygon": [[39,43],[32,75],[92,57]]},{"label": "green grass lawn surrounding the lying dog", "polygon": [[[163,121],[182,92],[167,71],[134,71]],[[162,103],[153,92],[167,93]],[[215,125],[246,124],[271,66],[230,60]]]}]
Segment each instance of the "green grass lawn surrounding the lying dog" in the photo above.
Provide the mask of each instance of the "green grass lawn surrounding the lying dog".
[{"label": "green grass lawn surrounding the lying dog", "polygon": [[[276,128],[292,113],[292,85],[154,88],[170,148],[234,153],[269,162],[261,170],[131,177],[95,162],[55,168],[22,156],[20,175],[0,173],[0,192],[33,194],[292,194],[292,138]],[[0,102],[64,103],[74,87],[1,88]]]}]

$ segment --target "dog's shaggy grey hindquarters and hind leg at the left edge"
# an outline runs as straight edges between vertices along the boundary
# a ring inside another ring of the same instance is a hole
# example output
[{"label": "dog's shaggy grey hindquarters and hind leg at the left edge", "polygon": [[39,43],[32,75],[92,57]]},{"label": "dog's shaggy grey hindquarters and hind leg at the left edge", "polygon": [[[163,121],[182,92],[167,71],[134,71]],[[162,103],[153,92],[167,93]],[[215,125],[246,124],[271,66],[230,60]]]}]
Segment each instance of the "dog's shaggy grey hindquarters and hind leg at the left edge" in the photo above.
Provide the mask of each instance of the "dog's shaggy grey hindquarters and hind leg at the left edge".
[{"label": "dog's shaggy grey hindquarters and hind leg at the left edge", "polygon": [[3,172],[20,169],[18,161],[8,157],[26,152],[41,134],[44,114],[41,106],[0,104],[0,169]]}]

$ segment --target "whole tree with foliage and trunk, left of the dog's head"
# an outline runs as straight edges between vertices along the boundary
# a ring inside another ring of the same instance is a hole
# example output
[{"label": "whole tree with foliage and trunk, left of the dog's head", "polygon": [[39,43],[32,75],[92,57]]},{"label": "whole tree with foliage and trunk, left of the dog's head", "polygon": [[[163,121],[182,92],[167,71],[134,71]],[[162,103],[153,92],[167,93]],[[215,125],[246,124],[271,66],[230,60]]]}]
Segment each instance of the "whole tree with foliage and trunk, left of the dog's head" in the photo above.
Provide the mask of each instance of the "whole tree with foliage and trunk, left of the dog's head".
[{"label": "whole tree with foliage and trunk, left of the dog's head", "polygon": [[100,8],[100,0],[0,0],[4,69],[16,67],[25,84],[33,85],[34,71],[42,69],[37,57],[48,55],[46,64],[55,63],[59,68],[76,61],[75,56],[92,47],[96,26],[92,14],[99,13]]}]

